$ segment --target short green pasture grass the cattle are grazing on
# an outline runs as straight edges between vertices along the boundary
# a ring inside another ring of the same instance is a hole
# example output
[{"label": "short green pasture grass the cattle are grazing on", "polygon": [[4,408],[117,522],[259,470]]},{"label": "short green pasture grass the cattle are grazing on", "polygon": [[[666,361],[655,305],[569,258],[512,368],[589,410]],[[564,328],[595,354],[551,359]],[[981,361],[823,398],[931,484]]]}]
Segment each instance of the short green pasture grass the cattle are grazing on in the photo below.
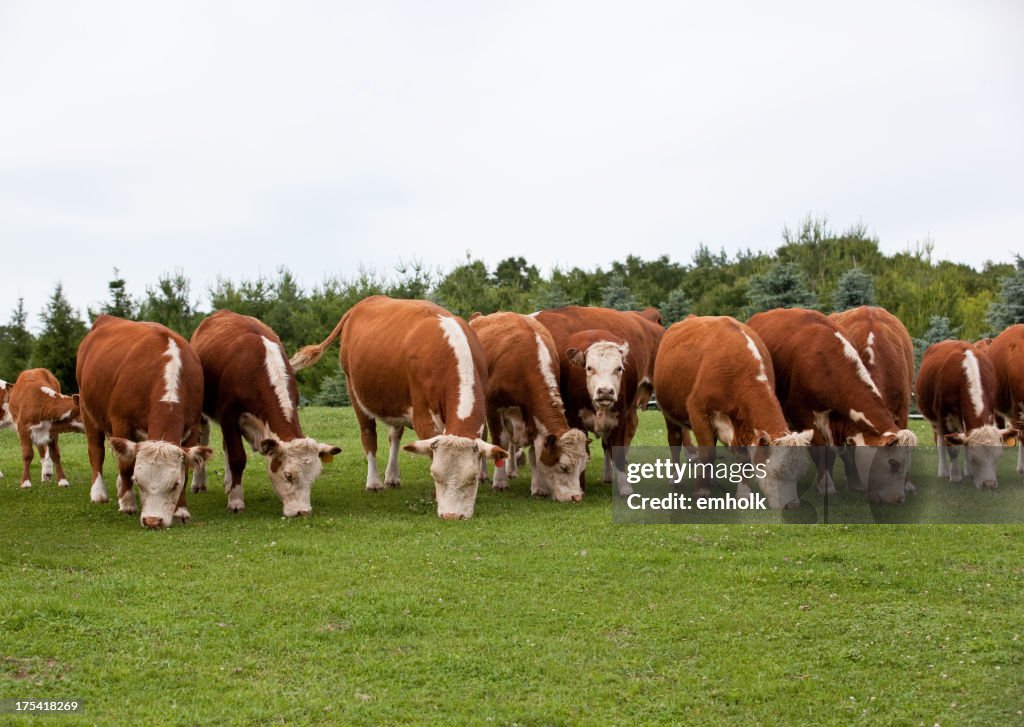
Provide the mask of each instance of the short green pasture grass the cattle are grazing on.
[{"label": "short green pasture grass the cattle are grazing on", "polygon": [[18,489],[3,432],[0,697],[84,699],[60,724],[1024,722],[1024,526],[616,525],[599,454],[580,505],[523,472],[444,522],[426,460],[371,495],[351,410],[302,419],[344,447],[310,518],[256,456],[228,513],[215,437],[165,531],[117,512],[111,456],[89,503],[81,436],[70,489],[38,462]]}]

